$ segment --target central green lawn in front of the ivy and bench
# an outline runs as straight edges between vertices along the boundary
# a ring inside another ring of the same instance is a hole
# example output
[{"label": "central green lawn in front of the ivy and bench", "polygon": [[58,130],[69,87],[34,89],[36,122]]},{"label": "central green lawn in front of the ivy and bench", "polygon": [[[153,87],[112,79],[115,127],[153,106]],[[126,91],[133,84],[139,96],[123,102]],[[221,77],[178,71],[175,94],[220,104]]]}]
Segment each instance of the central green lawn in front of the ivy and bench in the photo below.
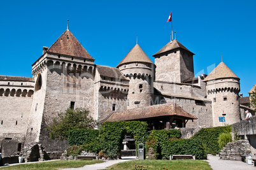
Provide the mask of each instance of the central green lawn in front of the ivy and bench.
[{"label": "central green lawn in front of the ivy and bench", "polygon": [[204,160],[131,160],[110,166],[111,169],[170,170],[170,169],[211,169]]}]

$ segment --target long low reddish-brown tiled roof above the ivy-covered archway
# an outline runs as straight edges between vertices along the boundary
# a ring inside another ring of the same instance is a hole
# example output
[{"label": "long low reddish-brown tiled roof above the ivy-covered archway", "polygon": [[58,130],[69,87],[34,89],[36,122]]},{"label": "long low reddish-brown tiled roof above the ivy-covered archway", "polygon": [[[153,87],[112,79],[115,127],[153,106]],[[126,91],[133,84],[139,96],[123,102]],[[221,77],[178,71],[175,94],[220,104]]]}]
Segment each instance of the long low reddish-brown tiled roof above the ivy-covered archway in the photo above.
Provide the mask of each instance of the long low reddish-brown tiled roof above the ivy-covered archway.
[{"label": "long low reddish-brown tiled roof above the ivy-covered archway", "polygon": [[106,122],[126,121],[126,120],[140,120],[145,118],[164,117],[164,116],[178,116],[187,119],[197,119],[184,111],[176,103],[171,104],[157,104],[153,106],[136,108],[125,111],[114,112],[108,117]]}]

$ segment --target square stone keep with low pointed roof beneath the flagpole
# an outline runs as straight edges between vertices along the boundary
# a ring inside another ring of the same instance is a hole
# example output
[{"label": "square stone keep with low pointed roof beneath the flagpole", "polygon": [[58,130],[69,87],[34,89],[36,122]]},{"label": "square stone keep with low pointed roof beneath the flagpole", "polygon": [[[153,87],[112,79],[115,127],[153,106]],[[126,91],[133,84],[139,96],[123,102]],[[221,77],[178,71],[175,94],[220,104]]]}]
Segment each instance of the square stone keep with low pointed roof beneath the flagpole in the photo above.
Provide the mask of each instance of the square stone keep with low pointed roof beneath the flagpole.
[{"label": "square stone keep with low pointed roof beneath the flagpole", "polygon": [[194,53],[174,39],[155,53],[155,81],[183,83],[194,78]]}]

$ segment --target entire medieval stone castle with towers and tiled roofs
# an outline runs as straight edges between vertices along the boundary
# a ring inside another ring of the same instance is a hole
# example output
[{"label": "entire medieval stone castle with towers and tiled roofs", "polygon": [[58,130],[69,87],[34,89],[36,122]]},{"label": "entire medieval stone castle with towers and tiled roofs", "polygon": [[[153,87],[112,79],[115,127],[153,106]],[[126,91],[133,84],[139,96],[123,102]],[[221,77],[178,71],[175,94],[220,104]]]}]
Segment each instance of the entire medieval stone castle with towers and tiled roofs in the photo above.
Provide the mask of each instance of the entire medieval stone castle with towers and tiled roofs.
[{"label": "entire medieval stone castle with towers and tiled roofs", "polygon": [[0,76],[0,140],[63,151],[66,141],[49,139],[45,127],[68,107],[88,108],[100,122],[143,120],[149,130],[239,122],[247,107],[239,104],[238,76],[221,62],[194,77],[193,55],[174,39],[154,63],[137,44],[117,67],[99,66],[67,29],[43,47],[32,78]]}]

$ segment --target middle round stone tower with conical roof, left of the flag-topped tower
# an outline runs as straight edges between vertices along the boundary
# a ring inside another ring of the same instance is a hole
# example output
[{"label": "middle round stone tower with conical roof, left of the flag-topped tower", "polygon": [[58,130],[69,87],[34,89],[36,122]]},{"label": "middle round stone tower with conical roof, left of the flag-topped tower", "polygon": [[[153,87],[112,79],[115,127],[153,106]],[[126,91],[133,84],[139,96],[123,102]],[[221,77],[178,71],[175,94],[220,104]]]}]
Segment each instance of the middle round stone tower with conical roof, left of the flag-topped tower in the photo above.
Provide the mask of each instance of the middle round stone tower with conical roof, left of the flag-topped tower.
[{"label": "middle round stone tower with conical roof, left of the flag-topped tower", "polygon": [[138,44],[124,57],[117,68],[130,80],[127,109],[152,105],[155,64]]}]

